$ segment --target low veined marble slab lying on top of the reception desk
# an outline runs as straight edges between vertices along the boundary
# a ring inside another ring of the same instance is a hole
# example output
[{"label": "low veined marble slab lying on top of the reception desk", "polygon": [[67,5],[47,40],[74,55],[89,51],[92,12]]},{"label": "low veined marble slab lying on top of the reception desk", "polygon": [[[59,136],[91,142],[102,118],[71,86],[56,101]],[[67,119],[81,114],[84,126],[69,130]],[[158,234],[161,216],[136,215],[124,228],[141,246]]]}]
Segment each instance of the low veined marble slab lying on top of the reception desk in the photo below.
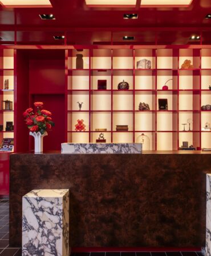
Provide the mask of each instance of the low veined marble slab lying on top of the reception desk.
[{"label": "low veined marble slab lying on top of the reception desk", "polygon": [[62,153],[141,153],[141,143],[62,143]]}]

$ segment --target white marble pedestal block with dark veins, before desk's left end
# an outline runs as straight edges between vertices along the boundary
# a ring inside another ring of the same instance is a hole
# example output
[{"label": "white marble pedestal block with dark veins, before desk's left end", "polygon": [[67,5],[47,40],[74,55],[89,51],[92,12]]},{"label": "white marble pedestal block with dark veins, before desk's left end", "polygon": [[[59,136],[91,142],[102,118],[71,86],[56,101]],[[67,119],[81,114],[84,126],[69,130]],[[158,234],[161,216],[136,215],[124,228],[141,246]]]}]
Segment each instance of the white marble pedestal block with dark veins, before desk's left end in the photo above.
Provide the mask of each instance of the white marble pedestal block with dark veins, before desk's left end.
[{"label": "white marble pedestal block with dark veins, before desk's left end", "polygon": [[32,190],[22,203],[22,256],[69,256],[69,190]]}]

